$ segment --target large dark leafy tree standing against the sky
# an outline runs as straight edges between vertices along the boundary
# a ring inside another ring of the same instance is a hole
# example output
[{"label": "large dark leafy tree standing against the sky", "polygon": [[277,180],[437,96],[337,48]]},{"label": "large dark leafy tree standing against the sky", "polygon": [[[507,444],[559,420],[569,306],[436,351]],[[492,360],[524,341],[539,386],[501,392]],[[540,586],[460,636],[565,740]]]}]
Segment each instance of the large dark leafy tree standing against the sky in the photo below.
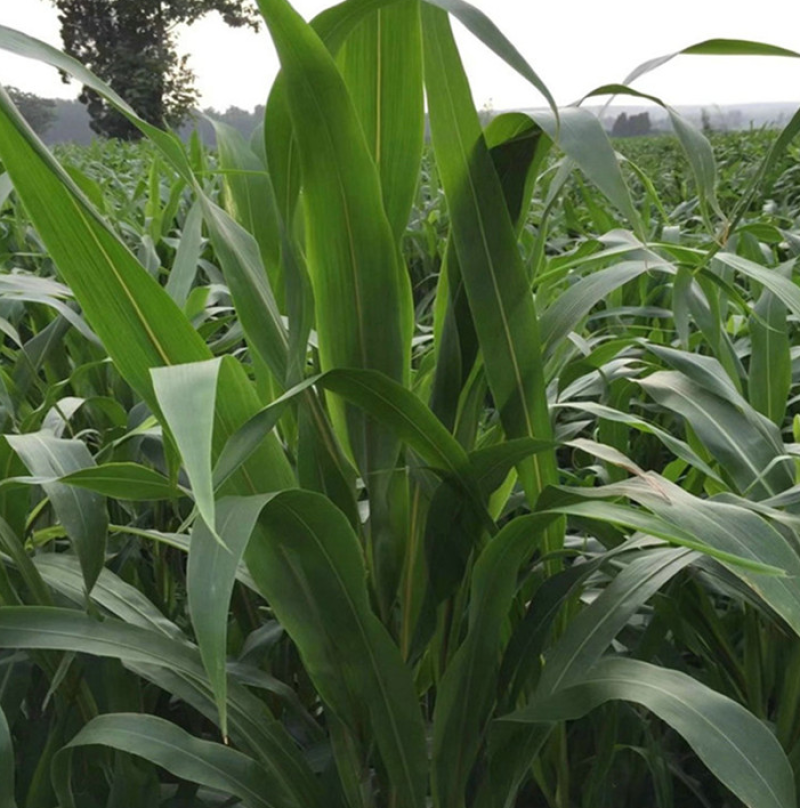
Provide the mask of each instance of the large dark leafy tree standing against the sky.
[{"label": "large dark leafy tree standing against the sky", "polygon": [[[228,25],[258,27],[250,0],[52,0],[65,51],[108,82],[156,126],[179,126],[198,93],[187,56],[178,54],[175,27],[217,11]],[[65,79],[68,80],[68,79]],[[139,131],[97,93],[80,95],[101,135],[125,140]]]}]

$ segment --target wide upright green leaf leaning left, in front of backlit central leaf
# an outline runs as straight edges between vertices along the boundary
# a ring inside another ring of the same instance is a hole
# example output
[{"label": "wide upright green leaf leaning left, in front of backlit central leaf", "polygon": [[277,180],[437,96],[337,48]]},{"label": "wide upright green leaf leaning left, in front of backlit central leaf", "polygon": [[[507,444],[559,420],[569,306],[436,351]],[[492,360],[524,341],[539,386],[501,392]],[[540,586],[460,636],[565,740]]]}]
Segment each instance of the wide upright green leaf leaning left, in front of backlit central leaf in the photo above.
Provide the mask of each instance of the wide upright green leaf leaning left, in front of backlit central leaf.
[{"label": "wide upright green leaf leaning left, in front of backlit central leaf", "polygon": [[[259,5],[283,67],[306,220],[313,222],[306,254],[322,368],[369,368],[405,382],[411,290],[353,102],[330,53],[291,6],[285,0]],[[340,408],[334,408],[333,418],[365,479],[372,482],[373,472],[394,466],[395,442],[365,416],[351,409],[346,431]]]}]

